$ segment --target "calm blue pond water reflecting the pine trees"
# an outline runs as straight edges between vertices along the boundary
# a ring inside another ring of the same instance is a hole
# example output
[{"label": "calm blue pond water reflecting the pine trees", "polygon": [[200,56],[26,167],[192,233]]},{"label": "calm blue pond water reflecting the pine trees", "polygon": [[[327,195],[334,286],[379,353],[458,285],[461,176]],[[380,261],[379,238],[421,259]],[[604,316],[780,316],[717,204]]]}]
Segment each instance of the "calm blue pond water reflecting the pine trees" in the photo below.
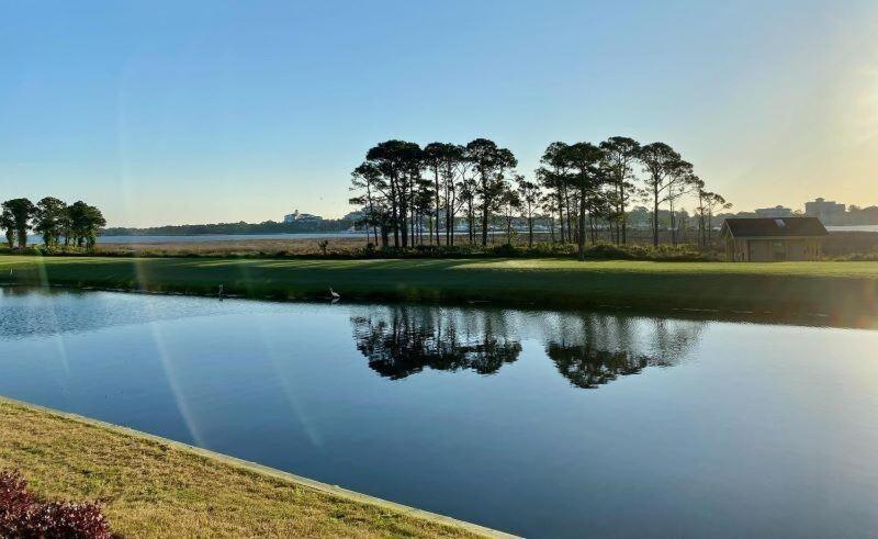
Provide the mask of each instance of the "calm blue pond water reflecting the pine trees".
[{"label": "calm blue pond water reflecting the pine trees", "polygon": [[0,289],[0,394],[529,537],[878,529],[878,333]]}]

